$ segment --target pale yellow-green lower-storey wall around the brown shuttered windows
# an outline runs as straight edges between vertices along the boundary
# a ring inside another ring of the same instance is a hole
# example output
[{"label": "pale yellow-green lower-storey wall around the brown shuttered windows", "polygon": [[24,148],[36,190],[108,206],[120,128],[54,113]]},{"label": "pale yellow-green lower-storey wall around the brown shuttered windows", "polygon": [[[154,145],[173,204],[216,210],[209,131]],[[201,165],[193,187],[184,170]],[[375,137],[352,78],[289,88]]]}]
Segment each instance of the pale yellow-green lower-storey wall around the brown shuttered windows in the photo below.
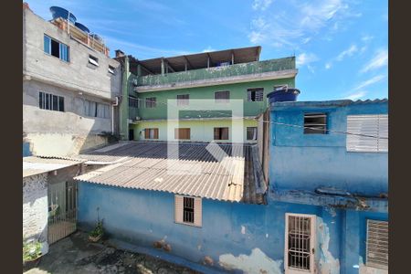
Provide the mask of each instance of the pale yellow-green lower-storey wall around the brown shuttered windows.
[{"label": "pale yellow-green lower-storey wall around the brown shuttered windows", "polygon": [[[244,142],[256,142],[247,141],[247,127],[257,127],[258,122],[253,120],[243,121],[243,138]],[[180,121],[180,128],[190,128],[190,140],[191,142],[210,142],[214,139],[215,127],[228,127],[228,140],[219,140],[218,142],[231,142],[232,140],[232,124],[227,120],[213,120],[213,121]],[[136,141],[144,141],[144,132],[146,128],[158,128],[159,139],[157,141],[167,141],[167,121],[140,121],[137,124],[130,124],[130,128],[134,129],[134,139]],[[172,141],[174,140],[174,134]],[[188,140],[187,140],[188,141]]]}]

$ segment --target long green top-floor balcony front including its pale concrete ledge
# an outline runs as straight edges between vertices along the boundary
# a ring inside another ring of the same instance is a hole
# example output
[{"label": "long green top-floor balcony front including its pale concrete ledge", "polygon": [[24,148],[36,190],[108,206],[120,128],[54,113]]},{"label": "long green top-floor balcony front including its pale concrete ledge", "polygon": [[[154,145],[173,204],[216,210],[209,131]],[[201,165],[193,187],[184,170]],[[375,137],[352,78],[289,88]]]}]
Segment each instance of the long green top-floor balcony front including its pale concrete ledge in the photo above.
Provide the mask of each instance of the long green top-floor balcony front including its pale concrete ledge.
[{"label": "long green top-floor balcony front including its pale concrete ledge", "polygon": [[230,66],[199,68],[141,76],[133,80],[135,91],[156,91],[212,86],[265,79],[295,77],[295,58],[277,58]]}]

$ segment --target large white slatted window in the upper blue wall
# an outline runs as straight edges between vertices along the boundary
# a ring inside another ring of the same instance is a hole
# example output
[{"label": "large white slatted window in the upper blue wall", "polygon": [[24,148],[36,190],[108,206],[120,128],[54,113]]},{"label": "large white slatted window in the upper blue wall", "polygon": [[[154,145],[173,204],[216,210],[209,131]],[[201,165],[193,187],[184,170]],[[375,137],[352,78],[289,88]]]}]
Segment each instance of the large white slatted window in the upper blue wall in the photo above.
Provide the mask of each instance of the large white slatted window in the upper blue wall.
[{"label": "large white slatted window in the upper blue wall", "polygon": [[347,115],[347,152],[388,153],[388,114]]}]

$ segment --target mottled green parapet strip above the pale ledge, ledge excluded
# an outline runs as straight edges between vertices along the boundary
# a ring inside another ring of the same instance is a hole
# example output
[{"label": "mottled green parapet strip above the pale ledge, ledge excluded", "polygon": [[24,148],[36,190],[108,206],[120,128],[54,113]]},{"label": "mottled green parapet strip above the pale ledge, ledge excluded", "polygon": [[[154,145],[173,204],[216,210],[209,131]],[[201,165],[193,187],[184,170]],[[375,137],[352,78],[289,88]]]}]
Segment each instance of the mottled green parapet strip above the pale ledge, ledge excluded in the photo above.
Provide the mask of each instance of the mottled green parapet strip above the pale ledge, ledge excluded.
[{"label": "mottled green parapet strip above the pale ledge, ledge excluded", "polygon": [[[230,79],[238,78],[241,76],[260,76],[261,74],[270,72],[290,72],[290,74],[296,73],[295,58],[278,58],[265,61],[256,61],[245,64],[234,64],[225,67],[216,68],[200,68],[182,72],[168,73],[164,75],[147,75],[139,77],[134,80],[134,84],[137,84],[137,90],[144,90],[144,87],[166,86],[172,85],[172,87],[179,86],[178,84],[194,83],[195,81],[211,80],[213,79]],[[279,73],[288,74],[288,73]],[[274,79],[275,75],[271,75]],[[290,77],[290,75],[288,76]]]}]

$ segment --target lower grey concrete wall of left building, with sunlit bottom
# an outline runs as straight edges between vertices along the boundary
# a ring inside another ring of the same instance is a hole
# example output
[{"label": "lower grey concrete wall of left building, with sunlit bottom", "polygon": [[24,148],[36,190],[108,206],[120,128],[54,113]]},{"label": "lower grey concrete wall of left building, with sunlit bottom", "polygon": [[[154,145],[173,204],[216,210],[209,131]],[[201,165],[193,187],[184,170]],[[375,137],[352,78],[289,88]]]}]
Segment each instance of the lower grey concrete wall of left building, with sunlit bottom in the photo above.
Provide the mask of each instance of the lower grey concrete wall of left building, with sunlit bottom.
[{"label": "lower grey concrete wall of left building, with sunlit bottom", "polygon": [[[107,143],[101,132],[111,132],[111,118],[85,116],[84,100],[110,104],[36,80],[23,82],[23,132],[35,155],[75,155],[88,148]],[[65,111],[41,110],[38,93],[44,91],[63,96]]]}]

